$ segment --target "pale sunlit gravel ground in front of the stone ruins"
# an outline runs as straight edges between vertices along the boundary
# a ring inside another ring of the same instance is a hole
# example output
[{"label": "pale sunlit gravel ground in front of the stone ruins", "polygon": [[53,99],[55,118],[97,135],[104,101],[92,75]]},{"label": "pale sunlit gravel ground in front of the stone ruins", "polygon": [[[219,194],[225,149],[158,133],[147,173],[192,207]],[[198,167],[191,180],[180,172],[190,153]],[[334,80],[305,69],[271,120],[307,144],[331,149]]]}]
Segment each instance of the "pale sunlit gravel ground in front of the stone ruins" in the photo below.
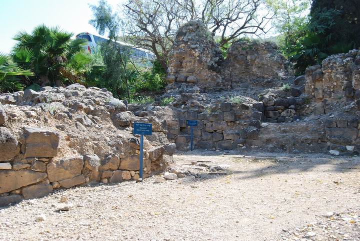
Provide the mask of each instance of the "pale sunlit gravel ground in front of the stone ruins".
[{"label": "pale sunlit gravel ground in front of the stone ruins", "polygon": [[[193,175],[58,190],[2,208],[0,240],[360,240],[358,157],[174,159]],[[215,164],[226,170],[209,173]]]}]

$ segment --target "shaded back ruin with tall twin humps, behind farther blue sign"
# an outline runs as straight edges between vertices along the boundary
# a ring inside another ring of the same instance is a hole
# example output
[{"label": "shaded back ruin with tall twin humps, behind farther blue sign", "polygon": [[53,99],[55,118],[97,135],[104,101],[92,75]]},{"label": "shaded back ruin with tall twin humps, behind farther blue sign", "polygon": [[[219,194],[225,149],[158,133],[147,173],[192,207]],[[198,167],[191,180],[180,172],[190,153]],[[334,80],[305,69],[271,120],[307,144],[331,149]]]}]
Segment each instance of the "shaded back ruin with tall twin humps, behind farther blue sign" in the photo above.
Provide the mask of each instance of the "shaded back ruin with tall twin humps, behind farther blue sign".
[{"label": "shaded back ruin with tall twin humps, behind farther blue sign", "polygon": [[186,120],[197,120],[195,148],[358,155],[359,60],[352,50],[294,77],[274,44],[240,40],[223,59],[206,28],[189,22],[168,68],[167,137],[188,148]]}]

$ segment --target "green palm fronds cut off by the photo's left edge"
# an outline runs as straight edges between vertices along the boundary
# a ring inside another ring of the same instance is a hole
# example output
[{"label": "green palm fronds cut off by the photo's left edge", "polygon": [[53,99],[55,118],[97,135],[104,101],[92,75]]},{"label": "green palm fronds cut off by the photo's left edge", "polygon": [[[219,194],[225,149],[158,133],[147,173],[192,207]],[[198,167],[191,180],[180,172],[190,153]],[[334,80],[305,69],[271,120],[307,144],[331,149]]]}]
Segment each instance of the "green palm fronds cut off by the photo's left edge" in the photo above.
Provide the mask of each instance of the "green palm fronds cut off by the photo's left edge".
[{"label": "green palm fronds cut off by the photo's left edge", "polygon": [[21,77],[34,76],[30,70],[23,70],[11,62],[4,54],[0,53],[0,92],[14,92],[23,90]]}]

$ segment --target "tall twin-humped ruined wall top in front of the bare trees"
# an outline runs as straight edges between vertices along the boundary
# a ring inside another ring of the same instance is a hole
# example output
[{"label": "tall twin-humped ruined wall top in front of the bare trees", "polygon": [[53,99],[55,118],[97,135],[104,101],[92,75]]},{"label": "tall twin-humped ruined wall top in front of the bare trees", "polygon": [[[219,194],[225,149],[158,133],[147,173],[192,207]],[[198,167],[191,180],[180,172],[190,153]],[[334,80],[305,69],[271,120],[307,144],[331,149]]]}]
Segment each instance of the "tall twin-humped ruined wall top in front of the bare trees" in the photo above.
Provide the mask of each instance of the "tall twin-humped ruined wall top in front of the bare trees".
[{"label": "tall twin-humped ruined wall top in front of the bare trees", "polygon": [[[290,64],[275,44],[237,41],[226,60],[201,22],[179,28],[169,60],[167,90],[218,91],[236,87],[279,87],[291,74]],[[186,92],[186,91],[184,91]]]}]

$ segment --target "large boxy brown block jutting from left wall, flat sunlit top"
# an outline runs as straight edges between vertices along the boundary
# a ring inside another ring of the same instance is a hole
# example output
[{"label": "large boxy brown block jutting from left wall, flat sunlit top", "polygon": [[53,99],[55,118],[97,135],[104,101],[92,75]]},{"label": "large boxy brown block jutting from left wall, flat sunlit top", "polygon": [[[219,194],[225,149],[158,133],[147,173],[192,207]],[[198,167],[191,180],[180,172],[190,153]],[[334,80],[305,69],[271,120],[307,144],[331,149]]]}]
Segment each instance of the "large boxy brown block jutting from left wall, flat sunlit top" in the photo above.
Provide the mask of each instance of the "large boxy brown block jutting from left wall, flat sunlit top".
[{"label": "large boxy brown block jutting from left wall, flat sunlit top", "polygon": [[57,155],[59,135],[37,127],[24,128],[24,157],[53,157]]}]

